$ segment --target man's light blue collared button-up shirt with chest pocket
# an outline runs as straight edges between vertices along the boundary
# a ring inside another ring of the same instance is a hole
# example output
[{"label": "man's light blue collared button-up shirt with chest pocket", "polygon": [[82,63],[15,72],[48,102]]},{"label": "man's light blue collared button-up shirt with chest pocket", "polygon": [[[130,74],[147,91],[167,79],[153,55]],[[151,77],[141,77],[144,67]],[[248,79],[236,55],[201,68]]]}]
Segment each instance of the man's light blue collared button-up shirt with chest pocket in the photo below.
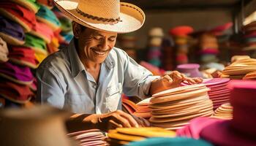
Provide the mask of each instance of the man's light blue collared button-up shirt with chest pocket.
[{"label": "man's light blue collared button-up shirt with chest pocket", "polygon": [[156,78],[124,50],[113,47],[95,82],[72,40],[68,47],[45,58],[37,69],[37,101],[74,113],[112,112],[121,110],[121,93],[146,98]]}]

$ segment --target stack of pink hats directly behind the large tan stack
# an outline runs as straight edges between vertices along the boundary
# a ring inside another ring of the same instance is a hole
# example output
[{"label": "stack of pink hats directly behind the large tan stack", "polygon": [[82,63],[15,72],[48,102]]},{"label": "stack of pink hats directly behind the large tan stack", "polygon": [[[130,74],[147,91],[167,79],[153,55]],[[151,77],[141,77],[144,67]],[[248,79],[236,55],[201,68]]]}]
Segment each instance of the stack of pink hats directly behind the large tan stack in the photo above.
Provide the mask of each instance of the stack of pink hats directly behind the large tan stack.
[{"label": "stack of pink hats directly behind the large tan stack", "polygon": [[221,104],[225,104],[230,101],[230,90],[227,88],[227,84],[230,81],[228,78],[213,78],[204,79],[203,84],[211,90],[208,91],[208,96],[214,104],[214,110],[216,110]]}]

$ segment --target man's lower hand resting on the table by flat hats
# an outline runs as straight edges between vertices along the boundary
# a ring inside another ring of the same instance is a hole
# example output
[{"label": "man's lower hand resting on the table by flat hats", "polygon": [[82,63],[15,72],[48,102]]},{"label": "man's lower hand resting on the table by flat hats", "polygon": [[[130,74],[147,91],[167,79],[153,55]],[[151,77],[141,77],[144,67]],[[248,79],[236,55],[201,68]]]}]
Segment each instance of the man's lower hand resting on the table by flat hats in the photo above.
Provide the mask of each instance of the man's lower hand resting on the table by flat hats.
[{"label": "man's lower hand resting on the table by flat hats", "polygon": [[108,131],[109,129],[118,128],[118,127],[138,127],[137,121],[132,118],[132,115],[129,115],[121,110],[116,110],[114,112],[109,112],[102,115],[90,115],[86,117],[83,121],[95,124],[95,126],[102,131]]}]

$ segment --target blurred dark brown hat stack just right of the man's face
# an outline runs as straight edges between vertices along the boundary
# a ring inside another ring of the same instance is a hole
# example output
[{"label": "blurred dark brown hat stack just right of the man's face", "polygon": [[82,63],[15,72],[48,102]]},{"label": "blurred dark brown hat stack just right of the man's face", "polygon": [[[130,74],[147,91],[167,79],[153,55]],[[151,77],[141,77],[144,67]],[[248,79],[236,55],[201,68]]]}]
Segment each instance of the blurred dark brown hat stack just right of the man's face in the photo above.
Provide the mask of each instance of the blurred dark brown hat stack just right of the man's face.
[{"label": "blurred dark brown hat stack just right of the man's face", "polygon": [[135,61],[137,60],[136,40],[137,38],[134,32],[118,35],[118,45]]}]

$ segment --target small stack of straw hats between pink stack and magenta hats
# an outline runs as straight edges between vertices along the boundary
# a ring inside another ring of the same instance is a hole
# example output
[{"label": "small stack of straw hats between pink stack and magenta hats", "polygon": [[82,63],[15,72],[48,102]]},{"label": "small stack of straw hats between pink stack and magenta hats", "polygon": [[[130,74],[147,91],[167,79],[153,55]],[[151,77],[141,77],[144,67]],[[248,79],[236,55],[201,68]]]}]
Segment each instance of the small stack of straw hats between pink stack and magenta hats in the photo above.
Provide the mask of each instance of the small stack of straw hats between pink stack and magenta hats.
[{"label": "small stack of straw hats between pink stack and magenta hats", "polygon": [[230,103],[222,104],[217,110],[214,111],[214,118],[221,118],[221,119],[232,119],[233,118],[233,107]]}]

